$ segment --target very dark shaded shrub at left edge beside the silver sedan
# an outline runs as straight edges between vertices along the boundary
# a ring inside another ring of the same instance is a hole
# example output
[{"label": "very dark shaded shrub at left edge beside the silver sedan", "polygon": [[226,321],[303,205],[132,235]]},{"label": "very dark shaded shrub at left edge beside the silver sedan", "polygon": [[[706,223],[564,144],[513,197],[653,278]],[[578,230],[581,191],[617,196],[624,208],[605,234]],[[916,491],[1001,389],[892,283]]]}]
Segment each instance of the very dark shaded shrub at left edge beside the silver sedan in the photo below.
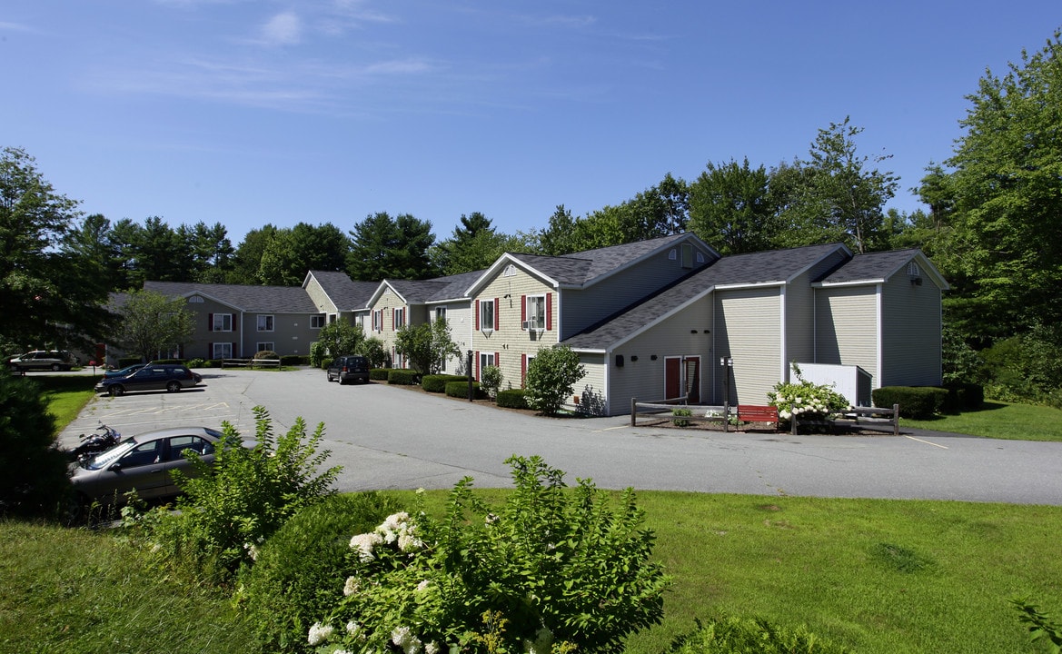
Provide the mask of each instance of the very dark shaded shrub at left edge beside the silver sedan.
[{"label": "very dark shaded shrub at left edge beside the silver sedan", "polygon": [[53,516],[70,482],[40,385],[0,371],[0,516]]}]

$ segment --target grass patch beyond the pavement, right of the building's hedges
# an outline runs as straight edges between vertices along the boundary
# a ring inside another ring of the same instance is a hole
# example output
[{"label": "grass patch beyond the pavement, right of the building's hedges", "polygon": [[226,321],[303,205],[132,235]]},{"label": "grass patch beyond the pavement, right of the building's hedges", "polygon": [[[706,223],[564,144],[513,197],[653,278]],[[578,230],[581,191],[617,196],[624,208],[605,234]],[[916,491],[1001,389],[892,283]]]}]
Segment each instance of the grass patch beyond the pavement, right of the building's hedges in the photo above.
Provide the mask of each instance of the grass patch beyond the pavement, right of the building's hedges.
[{"label": "grass patch beyond the pavement, right of the building's hedges", "polygon": [[986,400],[979,410],[959,415],[940,415],[928,420],[903,418],[900,425],[986,438],[1062,442],[1062,410],[998,400]]}]

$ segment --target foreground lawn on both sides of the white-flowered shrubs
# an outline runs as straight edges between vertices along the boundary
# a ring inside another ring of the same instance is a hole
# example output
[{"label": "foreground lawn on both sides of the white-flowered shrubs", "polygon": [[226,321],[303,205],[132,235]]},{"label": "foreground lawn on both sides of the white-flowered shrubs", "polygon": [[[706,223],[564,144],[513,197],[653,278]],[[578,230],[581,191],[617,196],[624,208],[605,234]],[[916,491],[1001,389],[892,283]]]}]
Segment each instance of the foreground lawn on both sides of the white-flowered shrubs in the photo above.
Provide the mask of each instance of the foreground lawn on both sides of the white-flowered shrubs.
[{"label": "foreground lawn on both sides of the white-flowered shrubs", "polygon": [[[493,502],[506,491],[477,493]],[[413,505],[412,492],[394,495]],[[429,492],[428,510],[445,497]],[[719,614],[805,624],[861,653],[1037,652],[1007,600],[1062,609],[1062,507],[664,492],[637,500],[674,585],[664,622],[629,638],[630,654],[663,654],[695,619]],[[225,654],[253,643],[226,596],[159,576],[113,533],[0,523],[0,654]]]}]

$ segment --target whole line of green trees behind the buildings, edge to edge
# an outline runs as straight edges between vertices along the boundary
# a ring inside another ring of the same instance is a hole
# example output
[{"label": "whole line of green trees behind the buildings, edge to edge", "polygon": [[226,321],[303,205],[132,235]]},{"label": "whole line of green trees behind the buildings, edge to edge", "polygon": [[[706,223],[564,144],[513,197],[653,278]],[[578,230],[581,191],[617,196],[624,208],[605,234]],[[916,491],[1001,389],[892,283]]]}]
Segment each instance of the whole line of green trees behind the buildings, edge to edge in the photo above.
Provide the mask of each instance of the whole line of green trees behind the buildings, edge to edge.
[{"label": "whole line of green trees behind the buildings, edge to edge", "polygon": [[889,155],[859,152],[862,128],[849,118],[819,130],[806,156],[770,168],[748,158],[708,162],[695,179],[668,173],[586,216],[559,205],[545,227],[515,234],[474,211],[441,240],[429,221],[388,212],[348,230],[267,224],[236,246],[220,223],[113,223],[83,217],[29,154],[6,148],[0,339],[48,343],[71,325],[90,334],[104,324],[107,293],[148,279],[297,286],[308,270],[424,279],[482,270],[504,252],[555,256],[691,231],[723,255],[824,242],[856,253],[921,247],[953,289],[944,304],[950,373],[983,376],[976,368],[987,360],[1009,365],[1015,380],[1057,389],[1062,364],[1048,362],[1062,361],[1060,54],[1056,32],[1003,75],[986,71],[967,96],[963,135],[912,189],[927,209],[911,213],[886,209],[900,179],[885,169]]}]

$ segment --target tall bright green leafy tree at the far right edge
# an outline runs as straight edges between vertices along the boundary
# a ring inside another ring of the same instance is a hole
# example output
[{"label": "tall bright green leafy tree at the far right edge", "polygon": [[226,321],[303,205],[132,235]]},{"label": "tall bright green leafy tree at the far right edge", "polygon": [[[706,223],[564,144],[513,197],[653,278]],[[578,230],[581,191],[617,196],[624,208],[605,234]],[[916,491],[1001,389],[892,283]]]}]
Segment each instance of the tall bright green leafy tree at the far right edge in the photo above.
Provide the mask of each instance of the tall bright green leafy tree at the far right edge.
[{"label": "tall bright green leafy tree at the far right edge", "polygon": [[946,222],[946,315],[981,345],[1062,321],[1062,41],[987,70],[965,134],[920,193]]}]

